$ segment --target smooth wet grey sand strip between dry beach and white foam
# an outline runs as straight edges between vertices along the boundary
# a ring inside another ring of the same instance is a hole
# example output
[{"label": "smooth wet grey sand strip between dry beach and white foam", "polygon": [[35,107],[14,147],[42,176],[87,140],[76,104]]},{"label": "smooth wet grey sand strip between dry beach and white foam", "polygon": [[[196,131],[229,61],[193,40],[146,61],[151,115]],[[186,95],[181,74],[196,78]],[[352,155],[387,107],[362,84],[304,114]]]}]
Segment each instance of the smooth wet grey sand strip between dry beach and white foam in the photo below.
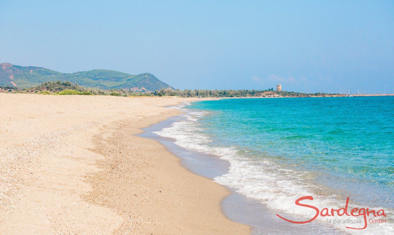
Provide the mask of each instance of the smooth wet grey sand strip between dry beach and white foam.
[{"label": "smooth wet grey sand strip between dry beach and white foam", "polygon": [[[187,106],[185,108],[187,109]],[[197,110],[189,111],[193,113]],[[188,111],[184,110],[184,112],[186,112],[184,114],[187,115]],[[216,177],[227,174],[229,172],[229,166],[231,165],[228,160],[224,160],[218,155],[186,149],[177,145],[175,143],[176,139],[157,134],[157,132],[162,131],[162,129],[171,128],[174,123],[182,122],[187,119],[184,117],[184,114],[180,114],[176,118],[174,117],[161,121],[151,127],[144,128],[143,130],[145,132],[138,136],[159,141],[162,145],[166,146],[170,152],[181,159],[182,166],[195,174],[210,178],[212,181],[214,181]],[[223,186],[230,191],[230,194],[221,202],[223,213],[227,218],[230,218],[233,221],[251,226],[252,234],[309,234],[314,231],[344,234],[343,231],[327,226],[327,224],[323,224],[321,222],[304,224],[303,226],[288,223],[277,217],[277,211],[269,209],[260,200],[247,197],[242,193],[237,192],[238,189],[236,188],[226,185]],[[287,217],[292,218],[293,220],[299,219],[294,215],[287,215]]]}]

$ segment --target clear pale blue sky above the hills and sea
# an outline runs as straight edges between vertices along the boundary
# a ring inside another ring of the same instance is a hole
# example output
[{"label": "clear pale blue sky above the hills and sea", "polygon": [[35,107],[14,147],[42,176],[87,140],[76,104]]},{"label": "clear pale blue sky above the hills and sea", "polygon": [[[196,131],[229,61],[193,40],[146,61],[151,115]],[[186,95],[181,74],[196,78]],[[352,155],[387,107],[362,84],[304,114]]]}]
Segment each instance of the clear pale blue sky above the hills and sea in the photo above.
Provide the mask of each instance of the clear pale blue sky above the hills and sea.
[{"label": "clear pale blue sky above the hills and sea", "polygon": [[2,0],[0,62],[175,88],[394,92],[394,1]]}]

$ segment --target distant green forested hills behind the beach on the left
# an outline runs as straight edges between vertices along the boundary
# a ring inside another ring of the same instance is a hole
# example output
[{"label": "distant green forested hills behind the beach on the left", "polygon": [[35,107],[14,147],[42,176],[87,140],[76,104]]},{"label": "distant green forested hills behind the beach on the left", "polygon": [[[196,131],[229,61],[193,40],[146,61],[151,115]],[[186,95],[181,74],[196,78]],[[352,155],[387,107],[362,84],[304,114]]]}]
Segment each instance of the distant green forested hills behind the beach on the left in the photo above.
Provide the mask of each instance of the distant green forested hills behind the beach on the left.
[{"label": "distant green forested hills behind the beach on the left", "polygon": [[151,73],[131,75],[113,70],[90,70],[76,73],[60,73],[35,66],[0,64],[0,85],[18,88],[38,86],[46,81],[70,81],[84,87],[100,89],[160,90],[172,88]]}]

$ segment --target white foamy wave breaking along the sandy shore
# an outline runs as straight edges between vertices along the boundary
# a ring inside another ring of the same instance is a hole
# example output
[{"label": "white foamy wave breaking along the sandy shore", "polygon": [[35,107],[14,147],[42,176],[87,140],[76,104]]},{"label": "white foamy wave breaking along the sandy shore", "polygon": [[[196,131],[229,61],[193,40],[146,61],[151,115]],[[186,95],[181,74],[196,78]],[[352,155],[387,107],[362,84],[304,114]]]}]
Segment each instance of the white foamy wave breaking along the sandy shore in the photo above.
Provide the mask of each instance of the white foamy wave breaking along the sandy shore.
[{"label": "white foamy wave breaking along the sandy shore", "polygon": [[[305,221],[314,216],[316,213],[313,209],[296,206],[295,201],[301,196],[313,196],[314,200],[308,204],[319,209],[325,207],[331,209],[339,209],[344,207],[346,200],[331,193],[327,188],[321,185],[313,184],[310,178],[312,173],[306,171],[296,171],[288,167],[283,167],[272,159],[258,156],[245,156],[242,154],[243,149],[238,146],[223,146],[218,145],[204,134],[204,128],[199,123],[199,119],[209,115],[209,112],[189,110],[186,107],[190,103],[174,106],[173,108],[184,111],[180,115],[180,121],[174,122],[171,127],[154,132],[159,136],[173,138],[175,144],[185,149],[199,151],[206,154],[214,154],[220,158],[227,160],[230,163],[227,174],[214,178],[214,181],[235,188],[237,192],[256,200],[273,211],[275,214],[280,214],[286,217],[286,214],[300,216],[299,221]],[[307,202],[305,202],[307,203]],[[356,204],[349,204],[349,209],[361,206]],[[371,208],[382,209],[382,208]],[[350,210],[349,210],[350,211]],[[389,214],[387,220],[392,220],[393,211],[385,209],[386,214]],[[333,219],[354,219],[355,217],[318,217],[325,223],[327,218]],[[360,217],[361,218],[361,217]],[[375,218],[375,217],[370,217]],[[362,220],[363,221],[363,220]],[[330,224],[335,228],[341,229],[347,233],[353,234],[392,234],[394,232],[394,224],[369,224],[366,229],[355,230],[345,228],[362,227],[364,224]]]}]

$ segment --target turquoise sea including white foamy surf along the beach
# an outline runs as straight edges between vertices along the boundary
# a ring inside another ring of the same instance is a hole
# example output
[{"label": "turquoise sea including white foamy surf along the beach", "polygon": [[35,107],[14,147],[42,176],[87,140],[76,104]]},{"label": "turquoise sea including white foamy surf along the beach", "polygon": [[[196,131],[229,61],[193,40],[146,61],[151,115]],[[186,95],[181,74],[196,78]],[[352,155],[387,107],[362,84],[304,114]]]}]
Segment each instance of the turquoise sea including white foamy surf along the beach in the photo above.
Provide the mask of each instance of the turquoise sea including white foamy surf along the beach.
[{"label": "turquoise sea including white foamy surf along the beach", "polygon": [[229,171],[214,178],[219,184],[299,221],[315,213],[294,204],[301,196],[313,196],[308,204],[320,209],[344,207],[349,197],[349,211],[384,209],[387,222],[345,228],[363,227],[358,217],[362,223],[330,226],[394,233],[394,97],[221,99],[174,108],[185,113],[156,134],[227,160]]}]

